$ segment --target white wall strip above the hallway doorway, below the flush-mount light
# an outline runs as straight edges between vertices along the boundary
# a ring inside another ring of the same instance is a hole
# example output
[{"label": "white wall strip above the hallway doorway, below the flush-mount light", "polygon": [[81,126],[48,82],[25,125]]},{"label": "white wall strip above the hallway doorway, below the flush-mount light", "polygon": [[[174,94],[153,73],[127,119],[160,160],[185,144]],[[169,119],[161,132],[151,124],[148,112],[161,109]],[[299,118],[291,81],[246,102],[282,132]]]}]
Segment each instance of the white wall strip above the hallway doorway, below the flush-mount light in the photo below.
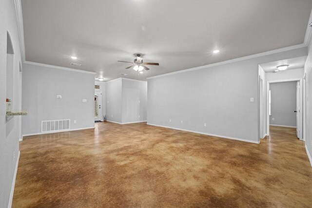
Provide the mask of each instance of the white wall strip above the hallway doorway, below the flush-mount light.
[{"label": "white wall strip above the hallway doorway, below the flush-mount light", "polygon": [[277,73],[270,72],[266,73],[267,81],[277,81],[277,80],[285,80],[285,79],[300,79],[303,78],[304,69],[292,69],[279,71]]}]

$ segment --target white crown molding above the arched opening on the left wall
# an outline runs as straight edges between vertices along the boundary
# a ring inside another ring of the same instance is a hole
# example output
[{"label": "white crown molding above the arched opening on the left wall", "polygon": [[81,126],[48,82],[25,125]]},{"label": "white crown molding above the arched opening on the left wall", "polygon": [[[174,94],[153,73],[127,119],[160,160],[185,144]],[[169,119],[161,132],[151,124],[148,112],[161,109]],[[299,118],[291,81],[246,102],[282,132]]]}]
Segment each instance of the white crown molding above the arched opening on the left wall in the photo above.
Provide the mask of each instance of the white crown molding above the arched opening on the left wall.
[{"label": "white crown molding above the arched opening on the left wall", "polygon": [[16,19],[18,23],[19,39],[20,39],[20,54],[21,54],[21,59],[24,62],[26,55],[25,55],[23,15],[21,11],[20,0],[14,0],[14,5],[15,5]]}]

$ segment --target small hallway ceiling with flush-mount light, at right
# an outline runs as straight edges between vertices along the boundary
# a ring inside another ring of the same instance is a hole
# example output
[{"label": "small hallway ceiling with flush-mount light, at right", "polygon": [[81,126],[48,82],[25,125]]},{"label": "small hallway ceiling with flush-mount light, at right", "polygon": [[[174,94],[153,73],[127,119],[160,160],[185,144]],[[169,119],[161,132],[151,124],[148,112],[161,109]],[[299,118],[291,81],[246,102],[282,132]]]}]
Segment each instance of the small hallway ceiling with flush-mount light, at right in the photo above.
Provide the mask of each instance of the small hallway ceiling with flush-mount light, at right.
[{"label": "small hallway ceiling with flush-mount light, at right", "polygon": [[306,60],[307,60],[307,56],[295,57],[295,58],[289,58],[289,59],[285,59],[285,60],[273,61],[273,62],[269,62],[269,63],[262,63],[259,65],[262,67],[262,69],[265,72],[274,72],[274,70],[277,69],[276,67],[280,66],[280,65],[289,65],[287,70],[301,69],[304,67]]}]

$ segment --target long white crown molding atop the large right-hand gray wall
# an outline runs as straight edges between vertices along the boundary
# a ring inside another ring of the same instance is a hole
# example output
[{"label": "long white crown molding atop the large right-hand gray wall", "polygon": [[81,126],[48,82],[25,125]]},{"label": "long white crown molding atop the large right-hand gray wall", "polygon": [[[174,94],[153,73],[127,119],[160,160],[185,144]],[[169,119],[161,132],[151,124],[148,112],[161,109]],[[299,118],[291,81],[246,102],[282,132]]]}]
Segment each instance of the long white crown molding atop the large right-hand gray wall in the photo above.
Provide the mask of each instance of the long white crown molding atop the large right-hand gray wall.
[{"label": "long white crown molding atop the large right-hand gray wall", "polygon": [[184,69],[184,70],[180,70],[180,71],[176,71],[176,72],[170,72],[170,73],[166,73],[166,74],[163,74],[163,75],[150,76],[150,77],[147,77],[146,79],[154,79],[154,78],[158,78],[158,77],[162,77],[162,76],[170,76],[170,75],[175,75],[175,74],[180,74],[180,73],[185,73],[185,72],[191,72],[191,71],[195,71],[195,70],[199,70],[199,69],[206,69],[206,68],[210,68],[210,67],[214,67],[214,66],[234,63],[234,62],[237,62],[237,61],[247,60],[247,59],[251,59],[251,58],[263,57],[263,56],[267,56],[267,55],[277,54],[277,53],[281,53],[281,52],[285,52],[285,51],[290,51],[290,50],[294,50],[294,49],[298,49],[298,48],[303,48],[303,47],[306,47],[306,46],[307,46],[306,44],[302,43],[302,44],[293,45],[293,46],[280,48],[280,49],[275,49],[275,50],[272,50],[272,51],[267,51],[267,52],[263,52],[263,53],[259,53],[259,54],[246,56],[246,57],[234,58],[234,59],[221,61],[221,62],[217,62],[217,63],[212,63],[212,64],[207,64],[207,65],[203,65],[203,66],[198,66],[198,67],[194,67],[194,68],[190,68],[190,69]]}]

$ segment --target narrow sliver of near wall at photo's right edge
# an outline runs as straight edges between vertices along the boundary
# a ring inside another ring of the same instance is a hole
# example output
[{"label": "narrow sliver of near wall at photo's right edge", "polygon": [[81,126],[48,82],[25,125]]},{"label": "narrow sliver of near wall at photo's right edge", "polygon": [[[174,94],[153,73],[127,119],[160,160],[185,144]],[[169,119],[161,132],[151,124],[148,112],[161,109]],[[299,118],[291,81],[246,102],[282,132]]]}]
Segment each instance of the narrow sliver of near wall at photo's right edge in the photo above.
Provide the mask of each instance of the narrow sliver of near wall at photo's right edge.
[{"label": "narrow sliver of near wall at photo's right edge", "polygon": [[[308,58],[304,66],[304,73],[306,75],[306,105],[304,105],[304,112],[306,111],[306,128],[305,128],[305,141],[306,149],[312,165],[312,40],[310,39]],[[305,102],[304,102],[305,103]],[[306,109],[306,110],[305,110]]]}]

